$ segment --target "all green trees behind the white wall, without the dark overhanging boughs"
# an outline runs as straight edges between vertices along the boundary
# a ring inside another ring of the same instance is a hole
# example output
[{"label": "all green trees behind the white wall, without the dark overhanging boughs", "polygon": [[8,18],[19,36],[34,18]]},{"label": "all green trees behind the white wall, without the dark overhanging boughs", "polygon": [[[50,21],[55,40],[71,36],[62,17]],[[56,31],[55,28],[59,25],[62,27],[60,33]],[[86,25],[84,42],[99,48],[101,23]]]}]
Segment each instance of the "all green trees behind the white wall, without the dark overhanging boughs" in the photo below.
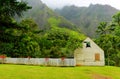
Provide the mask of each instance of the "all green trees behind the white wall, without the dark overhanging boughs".
[{"label": "all green trees behind the white wall, without the dark overhanging boughs", "polygon": [[[11,27],[4,30],[1,36],[1,54],[10,57],[73,57],[76,48],[82,46],[85,36],[81,33],[59,28],[60,19],[49,18],[51,27],[40,34],[37,24],[32,19],[24,19],[20,23],[11,19]],[[14,27],[12,27],[14,26]],[[4,39],[3,39],[4,38]],[[7,47],[8,48],[7,48]]]}]

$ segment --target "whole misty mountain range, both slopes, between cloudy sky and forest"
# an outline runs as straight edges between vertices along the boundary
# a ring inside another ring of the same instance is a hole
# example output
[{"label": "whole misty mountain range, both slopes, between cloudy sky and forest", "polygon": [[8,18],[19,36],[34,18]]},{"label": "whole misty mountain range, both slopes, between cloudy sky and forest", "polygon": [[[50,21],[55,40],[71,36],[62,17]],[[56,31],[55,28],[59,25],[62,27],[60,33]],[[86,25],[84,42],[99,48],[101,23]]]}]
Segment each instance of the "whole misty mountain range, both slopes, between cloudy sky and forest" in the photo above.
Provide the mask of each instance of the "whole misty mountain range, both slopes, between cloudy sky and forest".
[{"label": "whole misty mountain range, both slopes, between cloudy sky and forest", "polygon": [[[60,20],[58,27],[80,30],[90,37],[96,36],[96,29],[100,22],[110,22],[112,16],[119,10],[109,5],[89,5],[89,7],[65,6],[61,9],[50,9],[41,0],[28,0],[32,9],[24,13],[23,18],[32,18],[40,29],[50,29],[49,19]],[[22,18],[22,19],[23,19]]]}]

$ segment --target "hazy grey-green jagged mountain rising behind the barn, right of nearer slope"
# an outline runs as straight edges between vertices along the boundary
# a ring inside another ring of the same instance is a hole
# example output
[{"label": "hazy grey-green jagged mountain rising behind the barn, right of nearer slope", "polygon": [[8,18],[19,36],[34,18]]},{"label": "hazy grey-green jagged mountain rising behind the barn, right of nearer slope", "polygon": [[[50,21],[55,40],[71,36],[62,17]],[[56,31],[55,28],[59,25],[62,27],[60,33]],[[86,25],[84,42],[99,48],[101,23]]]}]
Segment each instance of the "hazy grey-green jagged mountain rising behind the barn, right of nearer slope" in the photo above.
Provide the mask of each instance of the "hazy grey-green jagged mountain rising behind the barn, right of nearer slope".
[{"label": "hazy grey-green jagged mountain rising behind the barn, right of nearer slope", "polygon": [[119,10],[109,6],[91,4],[89,7],[65,6],[62,9],[55,9],[57,13],[73,22],[87,36],[95,37],[95,30],[100,22],[110,22],[112,16]]}]

